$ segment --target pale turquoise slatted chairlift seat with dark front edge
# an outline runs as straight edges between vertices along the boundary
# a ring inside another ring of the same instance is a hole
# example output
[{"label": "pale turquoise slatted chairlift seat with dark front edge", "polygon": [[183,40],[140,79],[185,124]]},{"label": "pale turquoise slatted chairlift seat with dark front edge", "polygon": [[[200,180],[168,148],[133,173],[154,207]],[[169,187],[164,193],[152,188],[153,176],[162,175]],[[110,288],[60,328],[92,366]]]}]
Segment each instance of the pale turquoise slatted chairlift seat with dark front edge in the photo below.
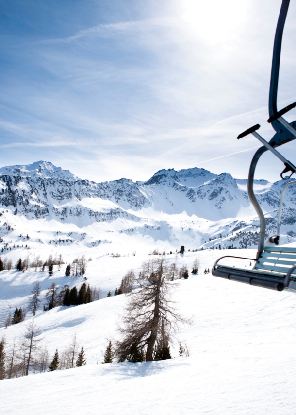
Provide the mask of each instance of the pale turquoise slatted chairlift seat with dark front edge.
[{"label": "pale turquoise slatted chairlift seat with dark front edge", "polygon": [[218,264],[222,258],[227,257],[255,260],[230,255],[223,256],[213,266],[212,274],[215,277],[245,282],[276,291],[285,289],[296,292],[296,248],[265,246],[251,270]]}]

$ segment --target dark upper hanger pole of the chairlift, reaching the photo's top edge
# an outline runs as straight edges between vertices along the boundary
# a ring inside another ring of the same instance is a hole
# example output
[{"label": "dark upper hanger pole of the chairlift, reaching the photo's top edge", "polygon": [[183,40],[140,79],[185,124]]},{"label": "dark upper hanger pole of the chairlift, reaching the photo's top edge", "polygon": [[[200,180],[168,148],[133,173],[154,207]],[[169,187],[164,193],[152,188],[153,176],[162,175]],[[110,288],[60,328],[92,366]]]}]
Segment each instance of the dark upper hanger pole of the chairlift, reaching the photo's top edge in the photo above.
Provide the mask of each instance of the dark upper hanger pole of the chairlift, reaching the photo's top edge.
[{"label": "dark upper hanger pole of the chairlift, reaching the photo's top edge", "polygon": [[[278,85],[279,85],[279,71],[280,71],[280,50],[281,50],[281,40],[284,30],[284,25],[288,13],[290,0],[282,0],[280,8],[280,16],[278,19],[277,30],[275,35],[275,41],[273,45],[273,55],[272,55],[272,65],[271,65],[271,76],[270,76],[270,88],[269,88],[269,101],[268,109],[269,116],[271,117],[276,112],[277,109],[277,96],[278,96]],[[282,127],[280,122],[275,120],[271,122],[275,131],[279,131]]]}]

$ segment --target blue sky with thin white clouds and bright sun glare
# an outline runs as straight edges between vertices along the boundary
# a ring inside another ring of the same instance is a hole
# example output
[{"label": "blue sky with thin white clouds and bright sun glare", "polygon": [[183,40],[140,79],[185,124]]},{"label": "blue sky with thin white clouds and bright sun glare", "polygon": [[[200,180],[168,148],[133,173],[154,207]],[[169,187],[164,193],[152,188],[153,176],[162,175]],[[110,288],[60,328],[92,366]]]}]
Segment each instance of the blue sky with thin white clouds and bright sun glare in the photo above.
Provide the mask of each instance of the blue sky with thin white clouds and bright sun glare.
[{"label": "blue sky with thin white clouds and bright sun glare", "polygon": [[[279,107],[296,99],[295,3]],[[258,142],[236,136],[257,122],[273,135],[267,98],[280,4],[0,1],[1,166],[47,160],[95,181],[145,180],[172,167],[246,178]],[[281,149],[294,163],[295,146]],[[279,171],[264,155],[257,175],[276,180]]]}]

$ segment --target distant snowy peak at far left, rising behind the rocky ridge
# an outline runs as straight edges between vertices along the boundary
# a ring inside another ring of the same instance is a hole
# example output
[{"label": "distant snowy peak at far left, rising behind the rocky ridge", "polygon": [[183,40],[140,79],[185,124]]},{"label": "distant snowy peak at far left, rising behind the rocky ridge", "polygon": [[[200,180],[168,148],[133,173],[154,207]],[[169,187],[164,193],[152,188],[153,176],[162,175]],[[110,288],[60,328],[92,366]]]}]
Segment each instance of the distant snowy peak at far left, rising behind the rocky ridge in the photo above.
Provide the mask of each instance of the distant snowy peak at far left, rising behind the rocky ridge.
[{"label": "distant snowy peak at far left, rising behind the rocky ridge", "polygon": [[43,179],[57,178],[75,181],[79,180],[69,170],[63,170],[56,167],[50,161],[35,161],[32,164],[15,166],[5,166],[0,168],[0,175],[4,176],[20,176],[20,177],[41,177]]}]

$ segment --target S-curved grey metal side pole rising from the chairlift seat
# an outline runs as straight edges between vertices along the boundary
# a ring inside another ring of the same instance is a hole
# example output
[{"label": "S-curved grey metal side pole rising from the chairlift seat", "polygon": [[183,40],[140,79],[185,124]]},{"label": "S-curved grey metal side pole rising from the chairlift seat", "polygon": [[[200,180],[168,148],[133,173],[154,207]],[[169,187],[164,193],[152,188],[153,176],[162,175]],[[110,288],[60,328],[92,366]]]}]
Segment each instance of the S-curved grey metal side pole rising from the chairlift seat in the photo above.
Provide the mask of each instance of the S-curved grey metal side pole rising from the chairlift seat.
[{"label": "S-curved grey metal side pole rising from the chairlift seat", "polygon": [[255,197],[253,186],[254,186],[254,174],[255,174],[255,169],[256,169],[258,160],[263,155],[263,153],[265,153],[265,151],[267,151],[267,148],[263,146],[263,147],[260,147],[254,154],[254,157],[252,158],[252,161],[250,164],[249,176],[247,180],[247,192],[248,192],[250,201],[252,202],[252,205],[255,207],[255,210],[260,220],[260,233],[259,233],[259,241],[258,241],[257,260],[259,259],[264,249],[266,222],[265,222],[265,218],[263,215],[263,211]]}]

